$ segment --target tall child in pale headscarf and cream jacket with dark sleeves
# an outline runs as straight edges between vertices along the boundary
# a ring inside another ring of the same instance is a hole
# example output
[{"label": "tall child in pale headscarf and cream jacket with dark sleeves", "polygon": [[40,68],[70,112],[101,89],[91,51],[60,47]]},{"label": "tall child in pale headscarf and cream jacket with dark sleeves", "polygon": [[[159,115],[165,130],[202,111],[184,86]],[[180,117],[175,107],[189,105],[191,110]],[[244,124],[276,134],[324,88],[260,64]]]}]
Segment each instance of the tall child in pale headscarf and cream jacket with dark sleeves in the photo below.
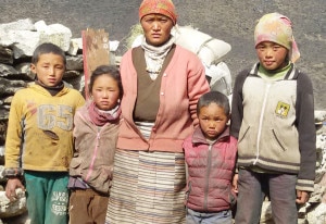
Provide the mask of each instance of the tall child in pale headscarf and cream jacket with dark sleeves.
[{"label": "tall child in pale headscarf and cream jacket with dark sleeves", "polygon": [[237,76],[233,95],[231,135],[239,139],[236,223],[259,223],[266,195],[275,223],[297,223],[296,202],[305,203],[314,190],[313,88],[293,64],[300,54],[288,17],[264,15],[254,41],[259,63]]}]

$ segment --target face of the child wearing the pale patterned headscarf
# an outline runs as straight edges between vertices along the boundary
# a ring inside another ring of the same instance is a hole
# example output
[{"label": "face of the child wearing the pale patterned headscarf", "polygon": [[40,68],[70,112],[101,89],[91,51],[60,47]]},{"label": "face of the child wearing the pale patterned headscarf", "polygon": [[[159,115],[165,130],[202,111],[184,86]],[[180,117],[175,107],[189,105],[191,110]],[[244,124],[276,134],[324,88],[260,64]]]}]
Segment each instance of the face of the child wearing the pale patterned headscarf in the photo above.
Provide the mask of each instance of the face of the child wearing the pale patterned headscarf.
[{"label": "face of the child wearing the pale patterned headscarf", "polygon": [[287,65],[288,49],[278,43],[264,41],[256,46],[255,51],[265,70],[274,71]]}]

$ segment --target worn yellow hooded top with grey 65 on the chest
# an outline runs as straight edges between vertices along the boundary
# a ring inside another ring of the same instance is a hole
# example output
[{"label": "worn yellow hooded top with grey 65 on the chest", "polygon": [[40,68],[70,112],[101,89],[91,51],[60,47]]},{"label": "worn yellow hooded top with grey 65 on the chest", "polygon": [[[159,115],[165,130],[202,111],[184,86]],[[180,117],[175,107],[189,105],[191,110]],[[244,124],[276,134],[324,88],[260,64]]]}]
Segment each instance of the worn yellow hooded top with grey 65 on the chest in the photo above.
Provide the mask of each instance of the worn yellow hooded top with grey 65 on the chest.
[{"label": "worn yellow hooded top with grey 65 on the chest", "polygon": [[5,173],[66,172],[73,155],[73,117],[84,103],[83,96],[67,87],[55,96],[39,85],[18,90],[8,122]]}]

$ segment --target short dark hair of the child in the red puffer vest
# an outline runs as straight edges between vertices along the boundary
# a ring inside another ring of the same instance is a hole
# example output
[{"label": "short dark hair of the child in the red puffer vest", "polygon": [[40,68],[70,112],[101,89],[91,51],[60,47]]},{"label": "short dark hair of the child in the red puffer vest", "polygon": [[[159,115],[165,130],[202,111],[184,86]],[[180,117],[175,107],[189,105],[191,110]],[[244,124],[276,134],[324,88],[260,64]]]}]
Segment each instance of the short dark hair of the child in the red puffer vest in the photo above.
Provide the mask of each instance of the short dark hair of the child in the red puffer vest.
[{"label": "short dark hair of the child in the red puffer vest", "polygon": [[228,115],[230,113],[228,98],[220,91],[209,91],[199,98],[197,103],[197,114],[199,114],[202,107],[208,107],[211,103],[216,103],[218,107],[223,108],[225,114]]}]

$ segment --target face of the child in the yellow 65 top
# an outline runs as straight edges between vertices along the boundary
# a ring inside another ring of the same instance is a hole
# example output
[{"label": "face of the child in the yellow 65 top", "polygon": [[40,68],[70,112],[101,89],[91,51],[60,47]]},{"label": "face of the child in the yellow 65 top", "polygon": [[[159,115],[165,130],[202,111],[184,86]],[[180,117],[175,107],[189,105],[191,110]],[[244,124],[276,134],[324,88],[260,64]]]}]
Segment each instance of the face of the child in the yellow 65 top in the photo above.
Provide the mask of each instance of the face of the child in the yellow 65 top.
[{"label": "face of the child in the yellow 65 top", "polygon": [[43,53],[39,55],[36,64],[30,64],[30,71],[37,75],[41,84],[54,87],[62,80],[65,65],[61,55]]}]

